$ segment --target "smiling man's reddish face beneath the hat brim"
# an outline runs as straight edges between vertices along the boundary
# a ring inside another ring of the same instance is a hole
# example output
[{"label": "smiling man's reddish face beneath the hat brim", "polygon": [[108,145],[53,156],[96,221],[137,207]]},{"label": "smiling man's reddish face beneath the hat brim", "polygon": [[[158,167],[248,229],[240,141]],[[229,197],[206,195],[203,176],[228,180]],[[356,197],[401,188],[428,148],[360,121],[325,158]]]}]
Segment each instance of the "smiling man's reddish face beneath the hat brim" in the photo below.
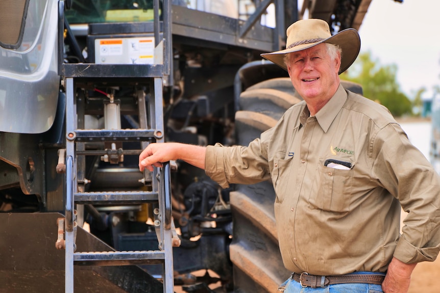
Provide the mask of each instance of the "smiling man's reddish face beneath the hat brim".
[{"label": "smiling man's reddish face beneath the hat brim", "polygon": [[[324,43],[290,53],[287,71],[307,104],[323,106],[339,86],[340,55],[331,59]],[[324,103],[324,104],[323,104]]]}]

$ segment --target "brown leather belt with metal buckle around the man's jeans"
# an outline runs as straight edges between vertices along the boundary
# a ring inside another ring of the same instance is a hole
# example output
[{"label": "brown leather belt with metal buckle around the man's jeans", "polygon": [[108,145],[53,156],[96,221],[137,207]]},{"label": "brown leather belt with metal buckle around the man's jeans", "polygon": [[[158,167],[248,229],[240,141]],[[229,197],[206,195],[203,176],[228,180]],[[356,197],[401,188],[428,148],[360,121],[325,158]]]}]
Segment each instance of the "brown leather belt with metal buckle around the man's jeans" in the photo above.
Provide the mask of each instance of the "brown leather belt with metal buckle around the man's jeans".
[{"label": "brown leather belt with metal buckle around the man's jeans", "polygon": [[332,284],[367,283],[381,285],[385,276],[383,274],[350,274],[338,276],[314,276],[307,273],[293,273],[292,279],[303,287],[324,287]]}]

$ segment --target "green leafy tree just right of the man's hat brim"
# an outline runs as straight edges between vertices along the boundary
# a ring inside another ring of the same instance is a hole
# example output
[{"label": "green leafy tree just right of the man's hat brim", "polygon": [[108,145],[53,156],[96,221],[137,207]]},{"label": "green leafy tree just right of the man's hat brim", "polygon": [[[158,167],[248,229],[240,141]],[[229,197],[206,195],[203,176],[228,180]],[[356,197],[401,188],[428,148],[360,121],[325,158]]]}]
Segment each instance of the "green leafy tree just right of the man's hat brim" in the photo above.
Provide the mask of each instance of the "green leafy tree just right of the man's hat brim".
[{"label": "green leafy tree just right of the man's hat brim", "polygon": [[364,52],[340,78],[360,84],[365,97],[384,105],[393,116],[412,115],[411,101],[401,92],[396,72],[395,64],[380,66],[372,60],[371,52]]}]

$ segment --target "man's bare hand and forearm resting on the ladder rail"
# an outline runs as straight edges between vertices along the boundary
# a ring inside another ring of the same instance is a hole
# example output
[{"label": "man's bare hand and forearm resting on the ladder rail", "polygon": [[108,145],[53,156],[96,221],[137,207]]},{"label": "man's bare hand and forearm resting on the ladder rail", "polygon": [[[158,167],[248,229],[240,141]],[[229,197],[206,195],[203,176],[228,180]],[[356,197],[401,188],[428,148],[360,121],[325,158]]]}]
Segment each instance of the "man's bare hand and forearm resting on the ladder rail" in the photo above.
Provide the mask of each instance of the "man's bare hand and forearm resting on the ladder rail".
[{"label": "man's bare hand and forearm resting on the ladder rail", "polygon": [[162,163],[181,159],[192,166],[205,170],[206,148],[181,143],[152,143],[139,155],[139,170],[153,171]]}]

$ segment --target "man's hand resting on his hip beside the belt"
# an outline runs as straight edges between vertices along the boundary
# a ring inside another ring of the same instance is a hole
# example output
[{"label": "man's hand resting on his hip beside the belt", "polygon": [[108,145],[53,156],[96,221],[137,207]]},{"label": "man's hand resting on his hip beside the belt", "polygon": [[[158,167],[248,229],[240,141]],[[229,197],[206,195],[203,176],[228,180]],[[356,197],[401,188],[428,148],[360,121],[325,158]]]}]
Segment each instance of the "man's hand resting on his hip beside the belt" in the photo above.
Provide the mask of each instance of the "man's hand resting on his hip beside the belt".
[{"label": "man's hand resting on his hip beside the belt", "polygon": [[382,283],[384,293],[407,293],[411,273],[417,263],[407,264],[393,257],[388,265],[388,272]]}]

